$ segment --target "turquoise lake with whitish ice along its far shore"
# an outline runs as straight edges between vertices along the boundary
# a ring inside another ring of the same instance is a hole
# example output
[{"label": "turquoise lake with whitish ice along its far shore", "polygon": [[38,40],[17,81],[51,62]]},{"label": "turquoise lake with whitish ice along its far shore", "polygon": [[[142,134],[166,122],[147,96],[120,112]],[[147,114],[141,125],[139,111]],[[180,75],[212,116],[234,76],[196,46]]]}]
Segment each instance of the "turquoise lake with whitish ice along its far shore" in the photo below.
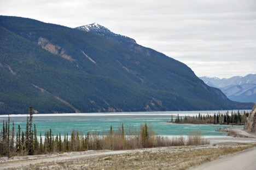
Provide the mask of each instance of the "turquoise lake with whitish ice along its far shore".
[{"label": "turquoise lake with whitish ice along its far shore", "polygon": [[[243,112],[244,110],[240,110]],[[147,124],[152,125],[155,132],[160,136],[179,136],[183,134],[186,136],[189,131],[200,129],[205,137],[224,137],[226,133],[216,132],[218,128],[228,127],[226,125],[187,125],[187,124],[167,124],[166,121],[179,116],[195,116],[200,114],[214,113],[226,113],[226,110],[214,110],[214,111],[187,111],[187,112],[124,112],[124,113],[77,113],[77,114],[34,114],[33,124],[36,124],[37,133],[50,130],[54,135],[61,133],[71,134],[72,130],[79,130],[86,134],[88,131],[97,130],[100,132],[108,131],[110,126],[113,129],[117,129],[120,124],[124,126],[132,125],[137,128],[147,121]],[[237,110],[233,110],[237,113]],[[245,110],[245,112],[251,112],[251,110]],[[231,110],[229,110],[231,113]],[[10,122],[14,122],[15,131],[18,130],[18,125],[21,126],[21,130],[25,131],[27,115],[10,115]],[[3,120],[8,120],[8,115],[0,115],[0,127],[3,127]],[[10,125],[10,128],[12,125]]]}]

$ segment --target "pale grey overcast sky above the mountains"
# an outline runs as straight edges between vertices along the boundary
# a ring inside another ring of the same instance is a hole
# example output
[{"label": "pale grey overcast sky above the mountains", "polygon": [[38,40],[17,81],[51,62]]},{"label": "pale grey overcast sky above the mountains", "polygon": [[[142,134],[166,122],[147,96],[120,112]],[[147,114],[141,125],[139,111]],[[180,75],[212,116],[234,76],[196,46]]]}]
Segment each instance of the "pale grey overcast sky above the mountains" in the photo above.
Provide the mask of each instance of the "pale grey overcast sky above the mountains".
[{"label": "pale grey overcast sky above the mountains", "polygon": [[72,28],[97,22],[198,77],[256,74],[255,0],[1,0],[0,15]]}]

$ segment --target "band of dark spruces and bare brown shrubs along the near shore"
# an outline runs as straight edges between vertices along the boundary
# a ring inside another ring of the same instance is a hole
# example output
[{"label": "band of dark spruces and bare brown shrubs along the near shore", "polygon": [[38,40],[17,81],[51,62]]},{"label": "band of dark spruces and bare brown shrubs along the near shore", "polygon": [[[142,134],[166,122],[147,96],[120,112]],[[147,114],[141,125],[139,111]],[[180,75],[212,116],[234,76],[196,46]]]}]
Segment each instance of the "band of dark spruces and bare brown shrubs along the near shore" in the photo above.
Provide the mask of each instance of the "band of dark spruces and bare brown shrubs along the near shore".
[{"label": "band of dark spruces and bare brown shrubs along the near shore", "polygon": [[[14,126],[10,132],[10,119],[3,122],[3,131],[0,133],[0,155],[37,155],[47,153],[63,153],[68,151],[86,151],[86,150],[130,150],[139,148],[155,148],[159,146],[178,146],[178,145],[200,145],[208,144],[206,139],[202,138],[201,131],[189,133],[188,140],[183,136],[167,137],[158,136],[150,124],[142,124],[139,129],[133,126],[124,127],[120,124],[117,130],[112,126],[109,131],[89,131],[83,134],[78,130],[73,130],[71,136],[64,134],[54,134],[50,131],[45,132],[44,140],[42,134],[37,136],[36,125],[32,126],[33,112],[30,109],[30,117],[27,117],[27,126],[25,133],[19,127],[14,134]],[[16,141],[15,141],[16,139]]]}]

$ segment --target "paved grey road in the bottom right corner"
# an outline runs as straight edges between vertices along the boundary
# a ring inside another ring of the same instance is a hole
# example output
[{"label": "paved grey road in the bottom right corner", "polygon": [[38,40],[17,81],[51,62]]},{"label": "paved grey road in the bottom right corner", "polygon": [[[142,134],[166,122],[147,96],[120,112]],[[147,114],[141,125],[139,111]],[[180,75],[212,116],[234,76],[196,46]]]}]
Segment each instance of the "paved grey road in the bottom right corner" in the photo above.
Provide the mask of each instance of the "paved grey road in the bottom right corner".
[{"label": "paved grey road in the bottom right corner", "polygon": [[222,159],[209,163],[204,163],[191,170],[212,170],[212,169],[236,169],[236,170],[255,170],[256,169],[256,147],[239,153],[225,156]]}]

